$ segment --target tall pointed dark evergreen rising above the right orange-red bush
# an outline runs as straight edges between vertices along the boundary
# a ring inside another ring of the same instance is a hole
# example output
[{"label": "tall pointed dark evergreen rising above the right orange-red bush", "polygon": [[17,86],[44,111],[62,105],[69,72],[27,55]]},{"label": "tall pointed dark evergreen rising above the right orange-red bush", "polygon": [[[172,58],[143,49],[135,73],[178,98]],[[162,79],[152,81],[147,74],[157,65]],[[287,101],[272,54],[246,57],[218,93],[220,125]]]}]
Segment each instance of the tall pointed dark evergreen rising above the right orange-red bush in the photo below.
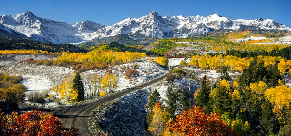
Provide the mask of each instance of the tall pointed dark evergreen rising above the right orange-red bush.
[{"label": "tall pointed dark evergreen rising above the right orange-red bush", "polygon": [[201,83],[200,91],[197,93],[196,99],[196,105],[201,107],[206,107],[208,101],[209,101],[209,94],[210,94],[210,83],[206,75],[204,75]]}]

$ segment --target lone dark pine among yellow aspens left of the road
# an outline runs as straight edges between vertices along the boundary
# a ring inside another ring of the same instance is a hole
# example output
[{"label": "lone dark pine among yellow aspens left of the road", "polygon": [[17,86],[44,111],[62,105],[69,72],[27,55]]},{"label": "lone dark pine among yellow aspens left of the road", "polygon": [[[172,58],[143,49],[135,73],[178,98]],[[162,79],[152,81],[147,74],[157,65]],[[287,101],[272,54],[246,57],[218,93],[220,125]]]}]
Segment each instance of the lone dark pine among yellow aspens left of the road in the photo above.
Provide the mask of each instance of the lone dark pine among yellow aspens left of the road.
[{"label": "lone dark pine among yellow aspens left of the road", "polygon": [[79,74],[79,72],[77,72],[74,76],[73,79],[73,89],[75,89],[77,91],[77,101],[84,101],[84,85],[82,82],[82,78]]}]

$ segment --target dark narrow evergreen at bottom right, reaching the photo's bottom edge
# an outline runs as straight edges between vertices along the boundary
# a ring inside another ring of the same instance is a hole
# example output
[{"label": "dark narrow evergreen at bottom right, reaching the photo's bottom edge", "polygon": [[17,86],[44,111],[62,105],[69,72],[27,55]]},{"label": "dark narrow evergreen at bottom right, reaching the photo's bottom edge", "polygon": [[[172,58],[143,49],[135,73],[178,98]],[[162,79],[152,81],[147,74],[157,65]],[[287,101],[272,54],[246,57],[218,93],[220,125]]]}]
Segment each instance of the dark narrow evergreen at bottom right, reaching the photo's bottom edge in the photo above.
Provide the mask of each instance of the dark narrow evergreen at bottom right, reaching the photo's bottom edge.
[{"label": "dark narrow evergreen at bottom right, reaching the photo's bottom edge", "polygon": [[260,116],[260,128],[263,135],[275,134],[275,126],[275,115],[272,111],[272,105],[266,100],[262,107],[262,115]]}]

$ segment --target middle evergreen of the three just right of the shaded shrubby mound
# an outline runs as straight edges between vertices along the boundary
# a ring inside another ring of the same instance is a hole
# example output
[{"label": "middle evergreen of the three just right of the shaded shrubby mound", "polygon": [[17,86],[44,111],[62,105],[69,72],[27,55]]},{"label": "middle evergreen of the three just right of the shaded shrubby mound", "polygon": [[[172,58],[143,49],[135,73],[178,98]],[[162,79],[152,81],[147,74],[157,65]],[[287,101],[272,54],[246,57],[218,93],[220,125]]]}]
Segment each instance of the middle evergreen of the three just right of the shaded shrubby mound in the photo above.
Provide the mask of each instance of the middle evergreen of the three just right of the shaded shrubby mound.
[{"label": "middle evergreen of the three just right of the shaded shrubby mound", "polygon": [[165,111],[168,112],[170,114],[170,118],[174,118],[175,117],[175,111],[178,108],[178,94],[177,92],[175,92],[173,90],[174,87],[174,83],[171,82],[171,85],[167,88],[167,93],[166,93],[166,99],[165,99],[165,103],[166,103],[166,107],[165,107]]}]

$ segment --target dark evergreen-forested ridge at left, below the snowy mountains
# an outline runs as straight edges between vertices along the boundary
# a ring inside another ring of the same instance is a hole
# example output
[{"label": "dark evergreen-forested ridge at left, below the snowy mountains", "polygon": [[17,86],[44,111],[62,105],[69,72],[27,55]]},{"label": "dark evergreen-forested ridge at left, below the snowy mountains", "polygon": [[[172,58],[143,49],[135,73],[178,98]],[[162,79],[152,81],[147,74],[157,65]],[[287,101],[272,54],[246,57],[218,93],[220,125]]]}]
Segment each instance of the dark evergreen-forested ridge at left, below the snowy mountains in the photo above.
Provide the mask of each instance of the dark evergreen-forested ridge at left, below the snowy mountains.
[{"label": "dark evergreen-forested ridge at left, below the snowy mountains", "polygon": [[47,52],[87,52],[73,44],[51,44],[25,38],[0,37],[0,50],[42,50]]}]

